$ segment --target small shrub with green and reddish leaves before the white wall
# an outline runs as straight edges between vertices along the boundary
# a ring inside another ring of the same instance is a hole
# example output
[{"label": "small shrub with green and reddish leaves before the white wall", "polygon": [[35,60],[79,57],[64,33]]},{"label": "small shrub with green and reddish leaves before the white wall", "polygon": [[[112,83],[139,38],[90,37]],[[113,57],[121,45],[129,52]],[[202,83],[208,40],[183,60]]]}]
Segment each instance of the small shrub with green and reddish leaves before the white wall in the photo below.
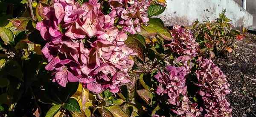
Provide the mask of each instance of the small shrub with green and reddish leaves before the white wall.
[{"label": "small shrub with green and reddish leaves before the white wall", "polygon": [[242,40],[245,37],[246,31],[241,33],[238,30],[232,29],[231,20],[225,15],[225,10],[219,14],[217,20],[198,24],[195,21],[192,26],[195,38],[200,44],[201,54],[206,54],[207,57],[213,58],[215,55],[225,55],[232,53],[236,48],[234,43],[236,40]]}]

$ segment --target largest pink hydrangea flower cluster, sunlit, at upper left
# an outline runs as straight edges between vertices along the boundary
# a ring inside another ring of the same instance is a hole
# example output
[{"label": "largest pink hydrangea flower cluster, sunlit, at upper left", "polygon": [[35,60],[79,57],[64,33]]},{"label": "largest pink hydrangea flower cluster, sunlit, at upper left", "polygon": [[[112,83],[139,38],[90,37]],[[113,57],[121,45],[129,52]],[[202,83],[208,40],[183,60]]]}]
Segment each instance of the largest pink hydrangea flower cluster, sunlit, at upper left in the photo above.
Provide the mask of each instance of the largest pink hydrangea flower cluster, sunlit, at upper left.
[{"label": "largest pink hydrangea flower cluster, sunlit, at upper left", "polygon": [[36,28],[48,42],[42,53],[53,82],[64,87],[80,82],[94,93],[116,93],[120,84],[130,82],[134,61],[129,56],[136,53],[124,43],[127,34],[113,25],[116,11],[105,15],[97,2],[55,0],[52,7],[44,7],[46,18]]}]

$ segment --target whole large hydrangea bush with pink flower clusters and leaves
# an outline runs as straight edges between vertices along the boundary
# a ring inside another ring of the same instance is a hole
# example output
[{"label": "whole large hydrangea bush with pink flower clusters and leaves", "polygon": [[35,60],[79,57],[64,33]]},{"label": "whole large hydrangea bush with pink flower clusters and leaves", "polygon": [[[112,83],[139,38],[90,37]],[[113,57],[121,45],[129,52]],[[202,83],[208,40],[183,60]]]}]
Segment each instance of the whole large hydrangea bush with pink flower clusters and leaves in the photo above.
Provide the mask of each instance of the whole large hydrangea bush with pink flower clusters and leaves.
[{"label": "whole large hydrangea bush with pink flower clusters and leaves", "polygon": [[232,116],[230,85],[197,31],[154,17],[166,1],[20,4],[31,18],[0,27],[1,117]]}]

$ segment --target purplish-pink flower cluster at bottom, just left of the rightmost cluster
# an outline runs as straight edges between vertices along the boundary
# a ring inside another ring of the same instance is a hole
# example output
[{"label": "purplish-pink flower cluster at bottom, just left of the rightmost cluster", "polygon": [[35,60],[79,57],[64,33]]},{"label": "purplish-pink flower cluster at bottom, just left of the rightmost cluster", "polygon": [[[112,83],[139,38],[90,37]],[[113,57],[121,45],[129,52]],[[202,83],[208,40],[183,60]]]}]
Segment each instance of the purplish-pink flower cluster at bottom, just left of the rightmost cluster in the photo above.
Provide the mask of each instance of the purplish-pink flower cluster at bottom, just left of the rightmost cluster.
[{"label": "purplish-pink flower cluster at bottom, just left of the rightmost cluster", "polygon": [[[196,103],[189,101],[187,97],[187,86],[185,76],[188,70],[185,67],[167,66],[166,72],[159,71],[154,76],[159,82],[156,93],[158,95],[168,95],[168,102],[174,106],[172,112],[182,117],[197,117],[201,111]],[[201,109],[202,110],[202,109]]]}]

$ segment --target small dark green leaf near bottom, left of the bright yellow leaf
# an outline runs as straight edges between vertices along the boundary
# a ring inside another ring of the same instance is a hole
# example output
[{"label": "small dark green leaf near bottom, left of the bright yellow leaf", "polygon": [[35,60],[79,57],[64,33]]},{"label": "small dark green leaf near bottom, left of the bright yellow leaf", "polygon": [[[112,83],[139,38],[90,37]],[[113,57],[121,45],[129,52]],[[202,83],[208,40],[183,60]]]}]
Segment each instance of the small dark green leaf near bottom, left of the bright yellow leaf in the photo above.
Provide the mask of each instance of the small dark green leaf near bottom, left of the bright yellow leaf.
[{"label": "small dark green leaf near bottom, left of the bright yellow leaf", "polygon": [[79,112],[80,111],[79,103],[74,98],[69,98],[67,100],[67,103],[64,104],[64,108],[69,110],[69,111],[73,111],[73,112]]}]

